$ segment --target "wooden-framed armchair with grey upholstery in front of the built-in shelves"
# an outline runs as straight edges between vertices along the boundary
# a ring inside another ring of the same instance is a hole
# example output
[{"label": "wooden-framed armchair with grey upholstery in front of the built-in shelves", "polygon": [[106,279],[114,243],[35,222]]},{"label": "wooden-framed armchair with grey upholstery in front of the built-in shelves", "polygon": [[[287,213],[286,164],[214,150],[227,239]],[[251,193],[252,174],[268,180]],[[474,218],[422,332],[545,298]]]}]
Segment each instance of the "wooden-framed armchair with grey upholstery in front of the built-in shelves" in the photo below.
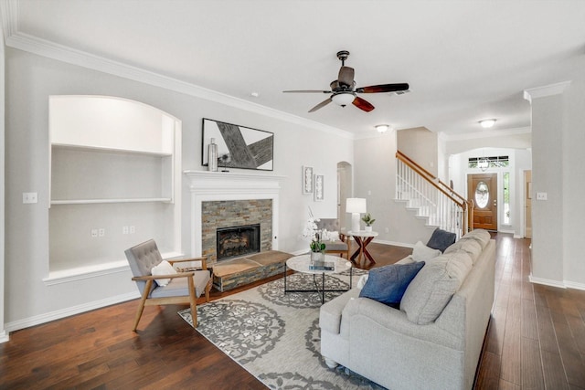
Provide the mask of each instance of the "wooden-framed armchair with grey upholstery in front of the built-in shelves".
[{"label": "wooden-framed armchair with grey upholstery in front of the built-in shelves", "polygon": [[[212,278],[207,270],[206,258],[186,258],[180,260],[168,260],[171,265],[184,263],[191,266],[189,262],[200,263],[197,270],[177,272],[168,275],[152,275],[151,269],[159,265],[163,258],[156,247],[153,239],[145,241],[133,248],[124,251],[130,269],[132,269],[133,280],[136,282],[141,293],[140,304],[136,311],[133,323],[133,332],[138,327],[138,322],[143,315],[144,306],[186,304],[191,306],[191,317],[193,326],[197,327],[197,298],[205,292],[206,301],[209,301],[209,290],[211,290]],[[170,279],[165,286],[159,286],[155,279]]]}]

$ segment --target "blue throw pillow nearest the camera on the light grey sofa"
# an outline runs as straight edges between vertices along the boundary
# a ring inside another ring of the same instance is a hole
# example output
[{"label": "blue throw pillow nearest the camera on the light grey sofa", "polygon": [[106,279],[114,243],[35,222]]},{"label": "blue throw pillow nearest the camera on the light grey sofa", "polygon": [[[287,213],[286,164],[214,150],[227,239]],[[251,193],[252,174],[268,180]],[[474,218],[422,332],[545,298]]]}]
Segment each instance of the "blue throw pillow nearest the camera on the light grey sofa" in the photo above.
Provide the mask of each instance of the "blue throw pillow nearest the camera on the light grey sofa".
[{"label": "blue throw pillow nearest the camera on the light grey sofa", "polygon": [[378,300],[389,306],[395,305],[402,300],[404,291],[422,266],[424,261],[370,269],[366,285],[359,292],[359,296]]}]

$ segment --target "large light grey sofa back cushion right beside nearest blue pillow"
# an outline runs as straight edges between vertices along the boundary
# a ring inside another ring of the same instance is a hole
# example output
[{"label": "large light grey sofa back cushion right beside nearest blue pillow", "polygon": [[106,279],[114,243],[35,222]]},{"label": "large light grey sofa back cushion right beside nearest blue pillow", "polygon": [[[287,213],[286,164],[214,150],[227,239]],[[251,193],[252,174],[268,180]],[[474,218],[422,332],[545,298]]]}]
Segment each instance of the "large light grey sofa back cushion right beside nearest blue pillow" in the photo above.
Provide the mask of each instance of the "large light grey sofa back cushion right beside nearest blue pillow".
[{"label": "large light grey sofa back cushion right beside nearest blue pillow", "polygon": [[471,269],[472,259],[463,251],[433,258],[410,282],[400,301],[400,310],[420,325],[435,321]]}]

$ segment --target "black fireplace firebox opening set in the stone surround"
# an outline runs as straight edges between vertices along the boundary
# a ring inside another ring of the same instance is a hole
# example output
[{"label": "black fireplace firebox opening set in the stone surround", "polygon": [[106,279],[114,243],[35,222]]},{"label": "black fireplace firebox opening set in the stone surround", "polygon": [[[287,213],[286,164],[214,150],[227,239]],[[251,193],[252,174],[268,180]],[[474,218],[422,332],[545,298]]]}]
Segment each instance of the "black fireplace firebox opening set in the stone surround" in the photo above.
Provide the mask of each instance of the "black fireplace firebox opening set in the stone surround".
[{"label": "black fireplace firebox opening set in the stone surround", "polygon": [[260,252],[260,224],[220,227],[216,237],[218,261]]}]

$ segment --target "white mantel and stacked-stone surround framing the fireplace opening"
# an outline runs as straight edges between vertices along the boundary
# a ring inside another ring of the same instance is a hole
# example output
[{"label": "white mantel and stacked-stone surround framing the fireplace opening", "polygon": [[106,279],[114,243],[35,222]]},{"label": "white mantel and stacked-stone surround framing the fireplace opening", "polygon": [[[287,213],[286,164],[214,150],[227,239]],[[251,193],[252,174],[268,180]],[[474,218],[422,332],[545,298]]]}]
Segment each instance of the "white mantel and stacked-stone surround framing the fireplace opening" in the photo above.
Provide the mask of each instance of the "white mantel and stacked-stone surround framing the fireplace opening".
[{"label": "white mantel and stacked-stone surround framing the fireplace opening", "polygon": [[278,250],[283,176],[185,171],[189,183],[191,256],[217,259],[217,229],[260,225],[260,251]]}]

